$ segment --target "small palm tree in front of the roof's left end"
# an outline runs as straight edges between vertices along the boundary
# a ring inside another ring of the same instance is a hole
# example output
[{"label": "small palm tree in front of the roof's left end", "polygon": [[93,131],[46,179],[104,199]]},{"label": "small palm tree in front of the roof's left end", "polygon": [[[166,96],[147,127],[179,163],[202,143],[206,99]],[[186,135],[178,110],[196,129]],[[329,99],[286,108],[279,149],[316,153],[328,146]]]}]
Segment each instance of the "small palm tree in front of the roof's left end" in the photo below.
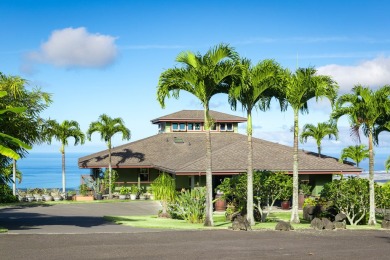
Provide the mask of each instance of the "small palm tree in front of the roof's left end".
[{"label": "small palm tree in front of the roof's left end", "polygon": [[99,132],[100,137],[104,140],[108,147],[108,197],[112,198],[112,183],[111,183],[111,148],[112,142],[111,139],[116,133],[122,133],[122,140],[129,140],[131,133],[128,128],[126,128],[122,118],[111,118],[106,114],[102,114],[99,116],[99,120],[92,122],[89,125],[87,131],[88,140],[91,141],[92,134],[94,132]]}]

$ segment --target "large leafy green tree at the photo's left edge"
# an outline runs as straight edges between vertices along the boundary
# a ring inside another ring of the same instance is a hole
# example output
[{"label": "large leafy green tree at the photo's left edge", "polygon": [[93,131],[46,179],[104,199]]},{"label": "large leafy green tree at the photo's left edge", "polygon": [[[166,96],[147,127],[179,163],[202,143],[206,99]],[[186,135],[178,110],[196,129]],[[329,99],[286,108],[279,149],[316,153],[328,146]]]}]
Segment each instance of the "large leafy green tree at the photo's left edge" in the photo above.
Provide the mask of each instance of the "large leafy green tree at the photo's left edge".
[{"label": "large leafy green tree at the photo's left edge", "polygon": [[[42,92],[39,88],[27,90],[28,81],[19,76],[6,76],[0,72],[0,91],[8,95],[3,96],[0,102],[0,129],[2,129],[2,139],[8,139],[6,146],[14,151],[9,158],[13,159],[14,169],[16,170],[16,160],[23,158],[27,150],[31,149],[33,144],[44,141],[42,135],[42,124],[44,119],[40,113],[51,103],[51,95]],[[5,91],[5,92],[4,92]],[[4,111],[13,111],[15,113],[4,113]],[[7,138],[6,138],[7,136]],[[9,139],[8,137],[13,138]],[[0,150],[2,150],[0,148]],[[4,167],[10,163],[7,157],[0,157],[0,165]],[[16,172],[13,172],[16,175]],[[16,193],[15,180],[14,194]]]}]

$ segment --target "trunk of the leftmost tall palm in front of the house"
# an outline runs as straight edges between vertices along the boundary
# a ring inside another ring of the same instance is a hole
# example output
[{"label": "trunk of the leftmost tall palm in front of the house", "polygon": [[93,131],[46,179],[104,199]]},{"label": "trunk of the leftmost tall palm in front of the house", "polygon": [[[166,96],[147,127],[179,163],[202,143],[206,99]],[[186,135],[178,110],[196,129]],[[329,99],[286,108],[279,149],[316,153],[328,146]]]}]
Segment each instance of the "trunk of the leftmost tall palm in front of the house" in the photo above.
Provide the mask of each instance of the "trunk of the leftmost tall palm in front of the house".
[{"label": "trunk of the leftmost tall palm in front of the house", "polygon": [[211,136],[209,109],[205,106],[204,122],[206,128],[206,218],[204,225],[207,227],[214,226],[213,221],[213,178],[212,178],[212,159],[211,159]]}]

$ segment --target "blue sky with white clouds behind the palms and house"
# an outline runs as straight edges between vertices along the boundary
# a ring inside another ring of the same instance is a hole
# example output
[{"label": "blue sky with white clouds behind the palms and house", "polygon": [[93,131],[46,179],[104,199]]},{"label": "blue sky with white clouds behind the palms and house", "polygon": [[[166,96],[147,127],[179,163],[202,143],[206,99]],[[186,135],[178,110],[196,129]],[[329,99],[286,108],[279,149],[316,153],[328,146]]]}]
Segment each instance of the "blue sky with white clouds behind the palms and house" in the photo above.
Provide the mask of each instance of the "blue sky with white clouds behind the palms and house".
[{"label": "blue sky with white clouds behind the palms and house", "polygon": [[[387,1],[87,1],[2,0],[0,71],[20,75],[30,86],[53,94],[45,118],[76,120],[83,131],[102,113],[121,117],[132,141],[156,134],[150,120],[181,109],[202,109],[182,93],[162,109],[156,100],[159,75],[177,65],[181,51],[205,53],[228,43],[257,63],[275,59],[282,66],[314,66],[333,76],[340,94],[354,84],[377,88],[390,84],[390,2]],[[211,109],[231,111],[226,95]],[[326,121],[326,101],[310,102],[305,123]],[[254,136],[292,145],[292,111],[254,113]],[[355,144],[345,118],[341,139],[323,141],[323,152],[339,155]],[[245,133],[245,125],[240,129]],[[366,142],[363,139],[363,142]],[[122,144],[120,136],[114,145]],[[381,136],[377,156],[387,157],[390,135]],[[316,150],[309,140],[300,144]],[[58,152],[59,145],[35,146],[32,152]],[[99,135],[71,152],[105,149]],[[377,160],[383,163],[383,159]]]}]

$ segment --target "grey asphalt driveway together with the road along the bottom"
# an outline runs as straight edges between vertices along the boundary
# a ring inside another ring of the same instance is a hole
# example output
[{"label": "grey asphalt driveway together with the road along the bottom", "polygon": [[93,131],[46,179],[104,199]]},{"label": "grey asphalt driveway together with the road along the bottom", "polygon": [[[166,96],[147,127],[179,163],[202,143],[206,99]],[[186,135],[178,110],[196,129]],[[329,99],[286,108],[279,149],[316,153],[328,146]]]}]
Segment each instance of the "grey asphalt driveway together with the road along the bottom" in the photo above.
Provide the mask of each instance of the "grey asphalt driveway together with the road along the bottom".
[{"label": "grey asphalt driveway together with the road along the bottom", "polygon": [[154,201],[0,209],[0,259],[389,259],[390,230],[167,231],[104,221]]}]

